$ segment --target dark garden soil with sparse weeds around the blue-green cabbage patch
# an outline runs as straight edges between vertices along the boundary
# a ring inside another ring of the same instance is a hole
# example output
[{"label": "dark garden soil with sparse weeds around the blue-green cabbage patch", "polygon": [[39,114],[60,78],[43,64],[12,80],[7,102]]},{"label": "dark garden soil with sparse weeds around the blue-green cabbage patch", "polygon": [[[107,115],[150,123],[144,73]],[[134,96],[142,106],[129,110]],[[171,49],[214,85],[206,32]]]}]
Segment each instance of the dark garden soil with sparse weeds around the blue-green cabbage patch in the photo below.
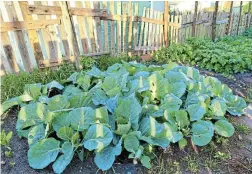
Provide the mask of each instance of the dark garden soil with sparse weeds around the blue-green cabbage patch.
[{"label": "dark garden soil with sparse weeds around the blue-green cabbage patch", "polygon": [[[252,73],[237,74],[234,75],[234,78],[225,78],[209,71],[201,72],[217,77],[232,88],[235,94],[251,100],[248,89],[252,88]],[[12,109],[7,117],[2,120],[2,129],[7,132],[13,131],[10,142],[13,156],[11,158],[5,157],[4,151],[6,149],[2,147],[1,173],[53,173],[52,166],[43,170],[34,170],[29,167],[27,140],[20,139],[15,130],[17,112],[17,109]],[[252,173],[252,115],[249,118],[249,113],[251,114],[251,111],[247,113],[247,116],[230,119],[236,132],[228,141],[216,139],[206,147],[195,148],[188,140],[189,146],[182,151],[179,150],[177,145],[171,145],[166,150],[158,149],[157,158],[153,160],[151,170],[147,170],[141,165],[133,165],[132,161],[128,160],[125,155],[119,156],[113,165],[113,169],[110,169],[107,173]],[[222,143],[218,143],[218,141]],[[86,152],[85,156],[86,159],[83,162],[76,156],[64,173],[102,173],[98,171],[93,161],[93,155]],[[13,163],[13,165],[10,163]]]}]

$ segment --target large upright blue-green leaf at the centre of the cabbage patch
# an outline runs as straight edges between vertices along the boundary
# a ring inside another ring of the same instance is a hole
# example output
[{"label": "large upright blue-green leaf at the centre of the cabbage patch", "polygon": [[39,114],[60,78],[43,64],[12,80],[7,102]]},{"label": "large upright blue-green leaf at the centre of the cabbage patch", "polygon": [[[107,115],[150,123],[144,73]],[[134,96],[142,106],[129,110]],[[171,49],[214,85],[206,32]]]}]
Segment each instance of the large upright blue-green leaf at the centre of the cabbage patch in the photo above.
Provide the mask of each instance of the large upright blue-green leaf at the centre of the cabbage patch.
[{"label": "large upright blue-green leaf at the centre of the cabbage patch", "polygon": [[[138,120],[142,107],[137,101],[134,95],[130,95],[127,98],[119,99],[118,107],[115,110],[115,116],[117,120],[126,120],[130,122],[134,130],[138,129]],[[121,123],[120,121],[118,123]]]}]

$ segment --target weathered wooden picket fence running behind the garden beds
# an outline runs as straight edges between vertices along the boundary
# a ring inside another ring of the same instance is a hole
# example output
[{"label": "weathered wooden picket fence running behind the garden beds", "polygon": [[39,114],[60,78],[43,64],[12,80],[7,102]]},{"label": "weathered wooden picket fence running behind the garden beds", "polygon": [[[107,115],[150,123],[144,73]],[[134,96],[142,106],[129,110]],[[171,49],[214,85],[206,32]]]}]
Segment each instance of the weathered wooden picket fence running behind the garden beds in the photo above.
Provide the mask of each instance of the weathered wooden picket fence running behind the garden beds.
[{"label": "weathered wooden picket fence running behind the garden beds", "polygon": [[218,12],[218,2],[215,12],[201,12],[197,4],[181,14],[165,2],[164,12],[144,8],[139,16],[136,2],[0,1],[1,75],[63,61],[78,67],[82,55],[149,54],[191,36],[240,34],[251,24],[251,13]]}]

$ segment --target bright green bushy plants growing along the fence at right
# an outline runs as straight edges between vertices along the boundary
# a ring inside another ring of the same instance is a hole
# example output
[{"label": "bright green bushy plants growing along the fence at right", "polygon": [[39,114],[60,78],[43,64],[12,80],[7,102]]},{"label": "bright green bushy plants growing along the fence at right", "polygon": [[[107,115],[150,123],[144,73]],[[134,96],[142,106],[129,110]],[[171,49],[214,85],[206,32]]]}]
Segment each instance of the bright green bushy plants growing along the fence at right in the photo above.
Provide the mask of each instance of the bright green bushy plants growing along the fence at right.
[{"label": "bright green bushy plants growing along the fence at right", "polygon": [[183,44],[172,44],[154,54],[158,63],[177,62],[198,66],[224,75],[252,70],[251,28],[244,36],[228,36],[212,42],[190,38]]}]

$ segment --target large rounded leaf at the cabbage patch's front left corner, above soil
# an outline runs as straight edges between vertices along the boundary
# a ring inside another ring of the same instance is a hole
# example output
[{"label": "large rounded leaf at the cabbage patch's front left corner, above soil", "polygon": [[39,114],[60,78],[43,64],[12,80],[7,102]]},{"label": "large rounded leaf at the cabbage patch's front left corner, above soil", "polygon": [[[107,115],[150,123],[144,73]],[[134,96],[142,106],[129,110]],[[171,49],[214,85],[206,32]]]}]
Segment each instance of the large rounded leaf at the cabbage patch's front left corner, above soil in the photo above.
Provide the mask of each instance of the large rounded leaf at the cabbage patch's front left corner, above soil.
[{"label": "large rounded leaf at the cabbage patch's front left corner, above soil", "polygon": [[28,150],[28,162],[34,169],[43,169],[55,161],[60,151],[60,142],[54,138],[42,139]]}]

